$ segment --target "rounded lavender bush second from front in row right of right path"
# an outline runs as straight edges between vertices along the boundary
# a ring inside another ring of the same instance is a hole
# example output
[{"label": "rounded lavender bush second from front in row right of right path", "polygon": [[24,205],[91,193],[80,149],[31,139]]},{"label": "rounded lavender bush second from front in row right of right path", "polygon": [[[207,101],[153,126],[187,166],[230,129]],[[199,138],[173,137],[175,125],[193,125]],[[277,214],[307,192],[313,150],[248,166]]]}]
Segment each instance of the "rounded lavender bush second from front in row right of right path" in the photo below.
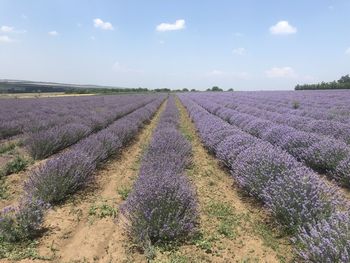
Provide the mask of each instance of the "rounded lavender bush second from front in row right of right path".
[{"label": "rounded lavender bush second from front in row right of right path", "polygon": [[266,207],[291,233],[300,226],[328,218],[341,205],[337,189],[326,187],[305,169],[297,170],[293,176],[276,178],[263,192]]}]

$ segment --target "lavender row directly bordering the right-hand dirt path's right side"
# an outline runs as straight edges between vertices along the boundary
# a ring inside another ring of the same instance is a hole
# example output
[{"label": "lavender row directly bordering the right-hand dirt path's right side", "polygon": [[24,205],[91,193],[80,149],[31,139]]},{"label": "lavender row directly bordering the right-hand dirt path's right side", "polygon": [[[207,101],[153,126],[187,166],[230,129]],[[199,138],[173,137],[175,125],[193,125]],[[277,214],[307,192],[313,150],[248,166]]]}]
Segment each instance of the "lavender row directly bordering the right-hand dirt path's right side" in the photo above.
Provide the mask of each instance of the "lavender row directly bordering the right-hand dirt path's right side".
[{"label": "lavender row directly bordering the right-hand dirt path's right side", "polygon": [[282,149],[235,128],[188,97],[180,99],[203,143],[228,166],[239,186],[295,237],[304,260],[349,262],[349,206],[338,189]]}]

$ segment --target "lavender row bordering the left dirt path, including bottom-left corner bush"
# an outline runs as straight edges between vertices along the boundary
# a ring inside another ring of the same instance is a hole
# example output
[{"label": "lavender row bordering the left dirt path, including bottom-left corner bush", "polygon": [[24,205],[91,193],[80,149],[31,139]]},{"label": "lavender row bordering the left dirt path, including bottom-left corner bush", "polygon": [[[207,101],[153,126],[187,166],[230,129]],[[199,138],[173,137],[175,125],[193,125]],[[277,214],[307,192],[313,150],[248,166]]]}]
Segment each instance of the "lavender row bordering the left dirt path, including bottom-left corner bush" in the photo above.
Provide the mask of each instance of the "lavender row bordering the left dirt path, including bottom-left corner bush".
[{"label": "lavender row bordering the left dirt path, including bottom-left corner bush", "polygon": [[163,100],[164,97],[158,97],[32,171],[25,182],[20,205],[0,212],[0,240],[16,242],[35,238],[49,204],[61,202],[89,184],[96,168],[137,134]]}]

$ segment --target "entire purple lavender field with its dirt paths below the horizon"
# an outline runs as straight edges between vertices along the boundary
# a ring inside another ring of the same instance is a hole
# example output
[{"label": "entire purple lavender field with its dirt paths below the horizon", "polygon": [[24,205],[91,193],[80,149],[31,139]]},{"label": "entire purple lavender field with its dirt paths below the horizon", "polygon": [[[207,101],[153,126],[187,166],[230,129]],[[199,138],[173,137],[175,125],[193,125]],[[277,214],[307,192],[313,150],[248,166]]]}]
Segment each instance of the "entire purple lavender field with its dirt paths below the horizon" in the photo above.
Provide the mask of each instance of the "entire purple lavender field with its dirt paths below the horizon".
[{"label": "entire purple lavender field with its dirt paths below the horizon", "polygon": [[348,91],[0,99],[0,112],[3,262],[350,262]]}]

